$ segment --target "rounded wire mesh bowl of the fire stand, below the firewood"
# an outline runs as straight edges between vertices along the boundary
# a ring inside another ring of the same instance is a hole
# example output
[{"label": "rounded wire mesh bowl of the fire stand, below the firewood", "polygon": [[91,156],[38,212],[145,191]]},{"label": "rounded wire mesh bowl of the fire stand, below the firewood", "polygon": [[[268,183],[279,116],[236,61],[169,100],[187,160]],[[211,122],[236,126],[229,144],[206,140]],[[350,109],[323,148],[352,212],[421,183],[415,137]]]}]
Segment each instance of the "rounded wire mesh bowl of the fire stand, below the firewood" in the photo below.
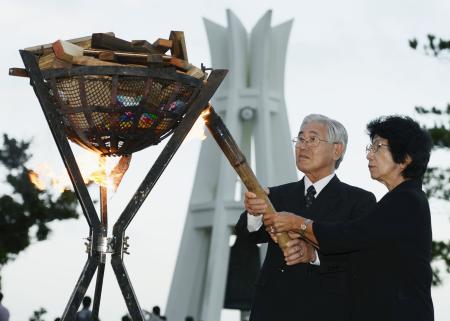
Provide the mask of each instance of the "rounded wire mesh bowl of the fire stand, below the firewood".
[{"label": "rounded wire mesh bowl of the fire stand, below the firewood", "polygon": [[68,138],[105,156],[158,144],[202,86],[171,67],[82,66],[42,74]]}]

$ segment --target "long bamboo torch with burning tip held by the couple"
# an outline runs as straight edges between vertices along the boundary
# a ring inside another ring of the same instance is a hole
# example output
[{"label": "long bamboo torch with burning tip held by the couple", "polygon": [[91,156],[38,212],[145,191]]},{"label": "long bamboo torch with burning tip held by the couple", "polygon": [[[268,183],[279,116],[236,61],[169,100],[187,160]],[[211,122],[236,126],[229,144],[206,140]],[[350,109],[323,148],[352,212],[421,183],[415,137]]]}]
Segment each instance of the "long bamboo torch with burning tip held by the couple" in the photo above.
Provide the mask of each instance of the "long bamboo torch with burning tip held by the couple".
[{"label": "long bamboo torch with burning tip held by the couple", "polygon": [[[248,165],[244,154],[242,154],[238,145],[234,141],[222,118],[220,118],[214,108],[210,106],[209,113],[204,113],[203,119],[205,120],[206,127],[208,127],[231,166],[233,166],[234,170],[241,178],[245,187],[250,192],[255,193],[258,198],[265,200],[267,204],[267,213],[275,213],[275,208],[264,192],[264,189],[259,184],[258,179],[253,173],[251,167]],[[282,249],[287,246],[287,242],[289,240],[290,238],[287,233],[277,234],[277,242]]]}]

